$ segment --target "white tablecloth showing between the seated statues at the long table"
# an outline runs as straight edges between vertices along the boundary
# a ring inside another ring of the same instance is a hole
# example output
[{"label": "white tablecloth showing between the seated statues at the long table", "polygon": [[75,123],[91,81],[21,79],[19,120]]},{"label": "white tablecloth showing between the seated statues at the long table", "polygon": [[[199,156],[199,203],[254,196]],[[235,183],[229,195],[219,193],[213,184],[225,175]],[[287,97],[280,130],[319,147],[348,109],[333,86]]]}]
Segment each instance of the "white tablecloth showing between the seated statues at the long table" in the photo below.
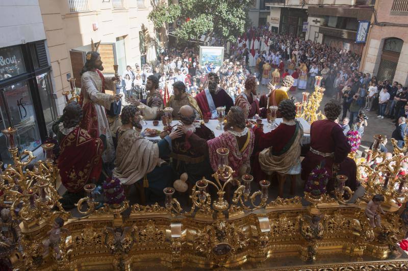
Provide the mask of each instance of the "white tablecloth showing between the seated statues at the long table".
[{"label": "white tablecloth showing between the seated statues at the long table", "polygon": [[[309,144],[310,143],[310,124],[309,122],[305,121],[303,118],[297,118],[296,120],[298,120],[300,122],[300,124],[303,126],[303,138],[302,138],[302,144]],[[150,129],[158,129],[160,131],[163,131],[163,123],[161,121],[159,121],[159,125],[158,126],[154,126],[153,125],[153,121],[146,121],[147,125],[143,125],[142,131],[144,131],[146,128],[150,128]],[[177,124],[179,121],[175,121],[173,120],[173,122],[171,123],[171,125],[175,125]],[[282,119],[276,119],[276,124],[280,124],[282,122]],[[272,129],[268,128],[268,121],[267,119],[263,119],[262,123],[264,124],[264,132],[270,132]],[[205,123],[205,125],[210,128],[213,132],[214,135],[216,137],[218,137],[221,133],[224,132],[224,130],[217,130],[216,127],[218,125],[218,120],[210,120],[208,123]],[[158,141],[160,140],[159,136],[156,137],[146,137],[146,139],[149,139],[151,141]]]}]

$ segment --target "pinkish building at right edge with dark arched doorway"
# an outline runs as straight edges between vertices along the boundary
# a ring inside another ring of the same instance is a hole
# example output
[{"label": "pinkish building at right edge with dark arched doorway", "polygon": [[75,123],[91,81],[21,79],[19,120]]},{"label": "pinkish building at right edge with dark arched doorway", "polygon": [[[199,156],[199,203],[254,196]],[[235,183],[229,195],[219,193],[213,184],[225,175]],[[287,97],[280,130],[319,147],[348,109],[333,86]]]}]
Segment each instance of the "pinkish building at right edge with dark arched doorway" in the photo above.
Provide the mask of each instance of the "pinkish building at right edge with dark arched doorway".
[{"label": "pinkish building at right edge with dark arched doorway", "polygon": [[397,81],[408,85],[407,0],[377,0],[376,20],[371,20],[362,70],[377,80]]}]

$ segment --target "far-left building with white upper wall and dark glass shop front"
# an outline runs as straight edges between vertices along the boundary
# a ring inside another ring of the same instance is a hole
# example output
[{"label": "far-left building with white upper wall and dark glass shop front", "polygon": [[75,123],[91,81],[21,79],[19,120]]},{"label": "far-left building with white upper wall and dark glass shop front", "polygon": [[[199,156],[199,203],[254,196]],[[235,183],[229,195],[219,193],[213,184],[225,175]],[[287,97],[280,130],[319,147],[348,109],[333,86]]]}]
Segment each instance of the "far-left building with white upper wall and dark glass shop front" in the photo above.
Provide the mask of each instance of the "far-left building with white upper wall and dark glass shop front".
[{"label": "far-left building with white upper wall and dark glass shop front", "polygon": [[[20,151],[33,151],[57,116],[40,6],[38,0],[2,1],[0,9],[0,130],[17,128]],[[3,133],[0,160],[12,162]]]}]

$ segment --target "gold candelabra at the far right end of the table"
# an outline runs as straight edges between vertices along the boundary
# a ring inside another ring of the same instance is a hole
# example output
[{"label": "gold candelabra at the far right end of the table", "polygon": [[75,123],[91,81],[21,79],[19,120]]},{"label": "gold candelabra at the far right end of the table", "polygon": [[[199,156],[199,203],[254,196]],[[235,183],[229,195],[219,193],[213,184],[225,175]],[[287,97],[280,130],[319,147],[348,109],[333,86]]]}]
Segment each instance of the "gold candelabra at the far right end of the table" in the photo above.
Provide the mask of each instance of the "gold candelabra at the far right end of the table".
[{"label": "gold candelabra at the far right end of the table", "polygon": [[316,83],[315,83],[315,91],[310,95],[307,92],[303,92],[302,97],[302,104],[303,110],[300,117],[307,120],[309,123],[312,123],[318,119],[323,119],[324,115],[319,110],[320,102],[323,99],[323,93],[326,90],[325,88],[320,87],[321,83],[321,76],[315,76]]}]

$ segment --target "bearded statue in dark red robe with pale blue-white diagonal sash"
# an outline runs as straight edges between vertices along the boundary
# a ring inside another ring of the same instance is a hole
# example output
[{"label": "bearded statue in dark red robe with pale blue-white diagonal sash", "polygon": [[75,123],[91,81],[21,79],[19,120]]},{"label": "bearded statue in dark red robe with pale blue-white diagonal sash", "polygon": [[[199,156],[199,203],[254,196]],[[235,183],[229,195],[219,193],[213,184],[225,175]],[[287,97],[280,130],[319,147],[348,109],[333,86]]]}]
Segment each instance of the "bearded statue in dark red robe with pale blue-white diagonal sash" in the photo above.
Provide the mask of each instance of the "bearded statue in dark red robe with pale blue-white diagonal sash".
[{"label": "bearded statue in dark red robe with pale blue-white diagonal sash", "polygon": [[231,96],[218,87],[219,82],[219,76],[210,72],[206,82],[207,88],[195,96],[204,119],[216,119],[218,117],[217,107],[225,106],[225,114],[227,114],[231,106],[234,105]]}]

